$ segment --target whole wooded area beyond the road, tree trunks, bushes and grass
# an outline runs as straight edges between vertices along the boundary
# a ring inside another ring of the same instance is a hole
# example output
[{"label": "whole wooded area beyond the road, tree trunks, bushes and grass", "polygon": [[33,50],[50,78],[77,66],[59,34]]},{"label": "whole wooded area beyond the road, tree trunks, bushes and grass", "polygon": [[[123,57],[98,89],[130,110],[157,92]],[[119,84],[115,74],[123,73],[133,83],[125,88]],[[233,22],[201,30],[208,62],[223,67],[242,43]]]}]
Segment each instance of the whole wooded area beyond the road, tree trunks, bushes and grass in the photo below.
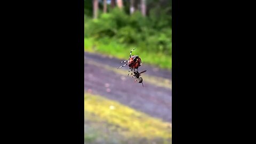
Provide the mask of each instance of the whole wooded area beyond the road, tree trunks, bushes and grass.
[{"label": "whole wooded area beyond the road, tree trunks, bushes and grass", "polygon": [[116,56],[139,47],[137,52],[147,55],[145,62],[170,68],[172,1],[87,0],[84,4],[85,49],[93,45],[95,51]]}]

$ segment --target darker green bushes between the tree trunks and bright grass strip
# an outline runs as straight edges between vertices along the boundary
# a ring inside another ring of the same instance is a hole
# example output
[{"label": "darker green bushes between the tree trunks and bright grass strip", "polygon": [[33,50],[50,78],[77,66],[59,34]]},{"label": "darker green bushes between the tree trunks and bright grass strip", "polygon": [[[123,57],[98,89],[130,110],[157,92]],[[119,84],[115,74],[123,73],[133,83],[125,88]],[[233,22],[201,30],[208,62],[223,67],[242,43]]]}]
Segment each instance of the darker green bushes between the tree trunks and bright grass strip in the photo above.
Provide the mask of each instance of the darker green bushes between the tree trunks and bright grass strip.
[{"label": "darker green bushes between the tree trunks and bright grass strip", "polygon": [[148,17],[142,17],[138,11],[129,15],[116,7],[109,13],[99,12],[99,18],[95,20],[85,16],[84,37],[104,41],[106,46],[115,42],[121,47],[135,46],[143,52],[171,55],[171,16],[166,11],[169,7],[164,10],[156,7],[150,10]]}]

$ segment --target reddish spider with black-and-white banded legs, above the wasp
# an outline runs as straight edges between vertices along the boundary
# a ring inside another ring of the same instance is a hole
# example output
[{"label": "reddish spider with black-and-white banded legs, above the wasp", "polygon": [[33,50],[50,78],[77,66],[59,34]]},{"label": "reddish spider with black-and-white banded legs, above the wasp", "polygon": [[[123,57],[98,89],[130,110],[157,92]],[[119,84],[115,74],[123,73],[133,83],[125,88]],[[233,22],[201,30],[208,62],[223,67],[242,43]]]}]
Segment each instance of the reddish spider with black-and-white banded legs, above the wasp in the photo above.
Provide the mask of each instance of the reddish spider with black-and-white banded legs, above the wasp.
[{"label": "reddish spider with black-and-white banded legs, above the wasp", "polygon": [[[133,49],[132,51],[134,51],[135,49]],[[135,69],[137,69],[137,71],[139,70],[138,68],[141,66],[141,59],[138,55],[132,55],[132,51],[130,52],[130,58],[128,60],[124,60],[124,61],[121,61],[120,63],[122,62],[127,62],[125,63],[123,66],[119,67],[119,68],[122,68],[126,65],[129,66],[129,71],[128,71],[128,76],[129,76],[129,73],[130,73],[130,69],[131,71]],[[118,68],[117,68],[118,69]]]}]

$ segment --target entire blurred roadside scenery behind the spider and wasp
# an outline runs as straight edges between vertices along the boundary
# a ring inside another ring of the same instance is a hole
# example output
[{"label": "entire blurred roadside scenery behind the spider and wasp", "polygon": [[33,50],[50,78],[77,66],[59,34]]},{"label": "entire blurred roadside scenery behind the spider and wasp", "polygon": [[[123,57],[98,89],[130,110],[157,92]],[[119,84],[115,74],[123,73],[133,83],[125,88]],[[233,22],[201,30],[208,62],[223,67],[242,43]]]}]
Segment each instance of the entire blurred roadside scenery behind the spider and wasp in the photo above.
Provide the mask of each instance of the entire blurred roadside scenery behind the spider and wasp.
[{"label": "entire blurred roadside scenery behind the spider and wasp", "polygon": [[84,0],[84,93],[84,143],[172,143],[172,1]]}]

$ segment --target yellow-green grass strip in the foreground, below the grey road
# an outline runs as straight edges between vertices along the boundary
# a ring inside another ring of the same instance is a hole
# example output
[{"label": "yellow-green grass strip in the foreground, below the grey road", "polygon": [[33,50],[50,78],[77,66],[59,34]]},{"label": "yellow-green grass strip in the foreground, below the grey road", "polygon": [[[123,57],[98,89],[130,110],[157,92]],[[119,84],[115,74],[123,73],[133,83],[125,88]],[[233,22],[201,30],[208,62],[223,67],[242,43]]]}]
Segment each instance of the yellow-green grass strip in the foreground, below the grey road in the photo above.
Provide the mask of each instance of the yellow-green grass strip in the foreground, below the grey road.
[{"label": "yellow-green grass strip in the foreground, below the grey road", "polygon": [[[99,95],[84,94],[85,119],[107,122],[115,130],[131,138],[172,138],[171,124]],[[90,140],[90,138],[89,138]]]}]

